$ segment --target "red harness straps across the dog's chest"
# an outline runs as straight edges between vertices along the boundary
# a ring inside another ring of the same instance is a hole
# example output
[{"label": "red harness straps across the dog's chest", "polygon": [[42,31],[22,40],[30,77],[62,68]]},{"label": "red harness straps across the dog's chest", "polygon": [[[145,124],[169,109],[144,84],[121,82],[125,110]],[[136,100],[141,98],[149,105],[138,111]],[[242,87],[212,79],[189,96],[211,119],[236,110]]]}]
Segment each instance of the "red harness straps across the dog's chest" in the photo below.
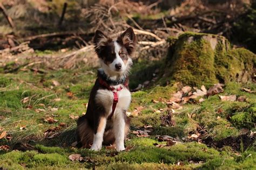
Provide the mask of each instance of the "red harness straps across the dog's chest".
[{"label": "red harness straps across the dog's chest", "polygon": [[[99,79],[99,83],[100,83],[102,86],[104,86],[104,87],[106,87],[107,89],[109,89],[110,91],[112,91],[112,92],[113,92],[113,95],[114,95],[113,105],[112,105],[112,112],[111,112],[111,114],[109,115],[109,117],[107,118],[107,119],[111,119],[111,117],[112,117],[113,114],[114,114],[114,110],[116,110],[116,107],[117,107],[117,102],[118,102],[118,94],[117,94],[117,91],[122,90],[123,87],[120,86],[120,87],[118,87],[118,88],[116,89],[116,88],[114,88],[114,87],[109,86],[109,84],[107,84],[102,78],[99,77],[98,79]],[[127,87],[128,84],[125,82],[125,83],[124,83],[124,86]]]}]

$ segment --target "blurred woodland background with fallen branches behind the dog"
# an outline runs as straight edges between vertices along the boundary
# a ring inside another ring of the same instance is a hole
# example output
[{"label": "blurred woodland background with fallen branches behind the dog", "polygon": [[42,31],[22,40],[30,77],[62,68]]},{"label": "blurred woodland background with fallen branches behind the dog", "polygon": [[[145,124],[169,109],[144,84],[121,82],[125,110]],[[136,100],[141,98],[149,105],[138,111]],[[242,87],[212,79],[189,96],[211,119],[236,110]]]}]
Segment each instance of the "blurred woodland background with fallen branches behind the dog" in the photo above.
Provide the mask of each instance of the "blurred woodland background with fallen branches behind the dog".
[{"label": "blurred woodland background with fallen branches behind the dog", "polygon": [[[114,35],[129,26],[141,41],[134,60],[165,56],[166,38],[184,31],[219,34],[255,53],[255,6],[254,0],[2,0],[0,67],[14,60],[23,65],[24,59],[50,68],[75,68],[81,61],[97,66],[90,46],[94,32]],[[35,55],[17,57],[26,52]]]}]

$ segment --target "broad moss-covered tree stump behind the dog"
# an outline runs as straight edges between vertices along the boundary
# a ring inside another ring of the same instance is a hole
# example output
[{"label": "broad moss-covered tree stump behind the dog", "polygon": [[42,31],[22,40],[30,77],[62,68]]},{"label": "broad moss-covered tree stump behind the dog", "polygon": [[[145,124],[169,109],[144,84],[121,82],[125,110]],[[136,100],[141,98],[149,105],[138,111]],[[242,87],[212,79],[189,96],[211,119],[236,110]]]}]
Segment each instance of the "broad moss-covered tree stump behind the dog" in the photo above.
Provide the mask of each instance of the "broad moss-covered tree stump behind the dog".
[{"label": "broad moss-covered tree stump behind the dog", "polygon": [[217,82],[252,80],[256,55],[244,48],[232,49],[225,37],[187,32],[169,42],[161,80],[207,87]]}]

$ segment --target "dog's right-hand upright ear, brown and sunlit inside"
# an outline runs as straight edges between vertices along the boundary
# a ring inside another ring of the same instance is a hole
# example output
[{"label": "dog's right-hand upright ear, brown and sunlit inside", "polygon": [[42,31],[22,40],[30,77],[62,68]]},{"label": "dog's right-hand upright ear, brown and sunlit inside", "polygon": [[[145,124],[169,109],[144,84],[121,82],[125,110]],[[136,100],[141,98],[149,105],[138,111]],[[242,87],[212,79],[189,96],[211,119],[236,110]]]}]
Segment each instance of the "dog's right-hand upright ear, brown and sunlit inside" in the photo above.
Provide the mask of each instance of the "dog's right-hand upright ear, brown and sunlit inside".
[{"label": "dog's right-hand upright ear, brown and sunlit inside", "polygon": [[129,55],[132,54],[135,49],[137,39],[131,27],[118,37],[118,41],[125,46]]}]

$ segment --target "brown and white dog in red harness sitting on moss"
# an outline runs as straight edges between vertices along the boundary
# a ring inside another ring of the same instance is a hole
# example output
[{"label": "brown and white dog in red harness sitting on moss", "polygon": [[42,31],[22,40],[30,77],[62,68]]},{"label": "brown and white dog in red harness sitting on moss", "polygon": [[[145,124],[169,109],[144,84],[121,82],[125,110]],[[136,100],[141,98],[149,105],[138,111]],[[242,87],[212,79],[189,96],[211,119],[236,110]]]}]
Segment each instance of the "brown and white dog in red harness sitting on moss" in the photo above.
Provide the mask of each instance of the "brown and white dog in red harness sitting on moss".
[{"label": "brown and white dog in red harness sitting on moss", "polygon": [[131,54],[136,45],[131,28],[116,40],[97,30],[95,52],[101,68],[90,94],[86,114],[77,122],[78,144],[99,151],[102,144],[116,144],[117,151],[125,150],[124,139],[130,122],[126,110],[131,102],[127,75],[132,65]]}]

